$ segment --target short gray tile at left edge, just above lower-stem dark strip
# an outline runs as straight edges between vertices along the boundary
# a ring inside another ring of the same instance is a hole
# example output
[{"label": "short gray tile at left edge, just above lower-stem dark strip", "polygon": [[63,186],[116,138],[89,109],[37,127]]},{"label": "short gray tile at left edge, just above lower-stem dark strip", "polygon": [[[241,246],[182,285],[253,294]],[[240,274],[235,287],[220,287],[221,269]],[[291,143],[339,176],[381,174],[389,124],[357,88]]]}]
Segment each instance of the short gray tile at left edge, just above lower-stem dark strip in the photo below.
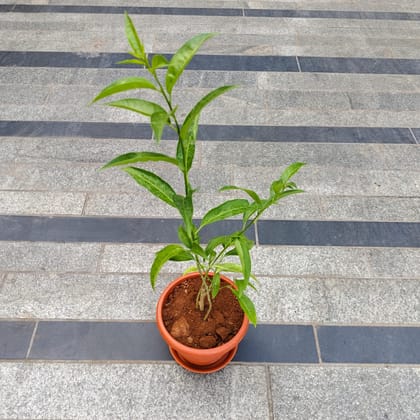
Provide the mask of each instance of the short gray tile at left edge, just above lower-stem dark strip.
[{"label": "short gray tile at left edge, just above lower-stem dark strip", "polygon": [[80,193],[0,191],[0,213],[81,215],[85,198]]}]

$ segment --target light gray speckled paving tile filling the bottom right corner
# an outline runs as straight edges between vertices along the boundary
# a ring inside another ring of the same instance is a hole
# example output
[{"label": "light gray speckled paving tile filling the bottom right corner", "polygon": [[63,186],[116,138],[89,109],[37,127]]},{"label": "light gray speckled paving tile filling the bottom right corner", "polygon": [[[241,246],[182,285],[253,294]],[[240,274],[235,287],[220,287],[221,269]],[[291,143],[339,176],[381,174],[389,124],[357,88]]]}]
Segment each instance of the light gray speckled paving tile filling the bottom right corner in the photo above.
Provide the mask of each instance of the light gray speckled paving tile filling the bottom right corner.
[{"label": "light gray speckled paving tile filling the bottom right corner", "polygon": [[270,366],[270,372],[275,419],[418,417],[417,367]]}]

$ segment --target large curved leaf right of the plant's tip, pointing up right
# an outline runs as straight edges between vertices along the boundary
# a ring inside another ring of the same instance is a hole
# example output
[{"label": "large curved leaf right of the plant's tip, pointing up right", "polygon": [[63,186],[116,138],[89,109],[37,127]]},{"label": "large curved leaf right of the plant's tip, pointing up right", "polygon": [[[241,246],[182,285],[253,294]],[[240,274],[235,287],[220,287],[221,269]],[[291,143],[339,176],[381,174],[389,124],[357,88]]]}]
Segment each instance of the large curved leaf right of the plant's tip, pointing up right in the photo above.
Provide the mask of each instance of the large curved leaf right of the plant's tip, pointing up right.
[{"label": "large curved leaf right of the plant's tip, pointing up right", "polygon": [[171,58],[166,73],[166,90],[169,94],[201,45],[215,34],[199,34],[187,41]]}]

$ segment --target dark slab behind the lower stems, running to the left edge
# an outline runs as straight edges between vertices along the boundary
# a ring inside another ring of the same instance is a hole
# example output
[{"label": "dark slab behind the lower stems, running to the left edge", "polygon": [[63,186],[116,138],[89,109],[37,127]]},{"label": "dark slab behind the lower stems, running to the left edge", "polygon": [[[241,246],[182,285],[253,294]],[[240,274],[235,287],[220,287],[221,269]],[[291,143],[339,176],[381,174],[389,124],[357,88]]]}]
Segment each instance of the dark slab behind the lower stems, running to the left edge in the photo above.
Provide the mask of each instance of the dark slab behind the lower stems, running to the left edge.
[{"label": "dark slab behind the lower stems, running to the left edge", "polygon": [[[49,242],[172,243],[178,242],[177,219],[118,217],[0,216],[0,240]],[[224,220],[201,231],[203,241],[241,228]],[[248,236],[255,238],[254,231]]]}]

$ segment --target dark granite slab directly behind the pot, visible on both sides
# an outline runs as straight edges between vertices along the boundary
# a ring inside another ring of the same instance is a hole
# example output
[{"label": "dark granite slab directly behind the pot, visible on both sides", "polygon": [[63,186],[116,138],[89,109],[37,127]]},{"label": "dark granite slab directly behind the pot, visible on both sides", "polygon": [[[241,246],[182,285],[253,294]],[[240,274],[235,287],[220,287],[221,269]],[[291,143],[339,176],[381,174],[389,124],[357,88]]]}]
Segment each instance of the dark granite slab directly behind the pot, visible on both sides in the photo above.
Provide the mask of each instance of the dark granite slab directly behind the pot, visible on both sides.
[{"label": "dark granite slab directly behind the pot, visible on both sides", "polygon": [[[30,359],[171,360],[151,322],[42,321]],[[234,359],[239,362],[317,363],[311,326],[250,328]]]}]

